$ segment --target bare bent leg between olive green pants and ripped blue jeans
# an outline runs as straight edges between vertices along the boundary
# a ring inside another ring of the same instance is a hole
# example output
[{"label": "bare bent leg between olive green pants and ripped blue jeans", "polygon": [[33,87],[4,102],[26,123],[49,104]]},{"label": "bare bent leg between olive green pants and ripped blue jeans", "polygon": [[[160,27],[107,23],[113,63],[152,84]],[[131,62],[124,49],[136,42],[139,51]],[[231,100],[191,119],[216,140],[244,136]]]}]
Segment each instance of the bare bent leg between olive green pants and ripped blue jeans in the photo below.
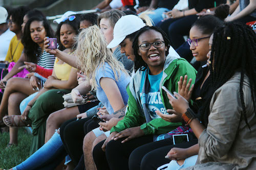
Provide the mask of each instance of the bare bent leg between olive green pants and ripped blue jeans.
[{"label": "bare bent leg between olive green pants and ripped blue jeans", "polygon": [[52,137],[55,129],[58,129],[61,124],[66,122],[67,120],[75,118],[77,114],[79,114],[77,106],[71,108],[64,108],[50,114],[46,122],[45,143]]}]

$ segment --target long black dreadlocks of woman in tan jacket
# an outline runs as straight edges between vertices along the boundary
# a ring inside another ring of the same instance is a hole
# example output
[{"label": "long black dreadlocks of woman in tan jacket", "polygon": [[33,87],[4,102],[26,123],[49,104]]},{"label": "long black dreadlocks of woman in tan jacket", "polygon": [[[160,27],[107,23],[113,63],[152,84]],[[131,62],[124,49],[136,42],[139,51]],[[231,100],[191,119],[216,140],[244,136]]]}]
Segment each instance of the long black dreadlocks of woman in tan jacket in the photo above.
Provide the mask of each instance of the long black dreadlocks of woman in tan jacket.
[{"label": "long black dreadlocks of woman in tan jacket", "polygon": [[[237,70],[241,71],[240,99],[242,103],[242,117],[250,129],[246,118],[243,82],[245,74],[249,78],[251,98],[255,111],[256,85],[256,35],[249,26],[240,23],[227,22],[214,31],[211,45],[210,78],[214,90],[212,94],[226,83]],[[208,108],[209,109],[209,105]],[[208,115],[207,122],[208,123]]]}]

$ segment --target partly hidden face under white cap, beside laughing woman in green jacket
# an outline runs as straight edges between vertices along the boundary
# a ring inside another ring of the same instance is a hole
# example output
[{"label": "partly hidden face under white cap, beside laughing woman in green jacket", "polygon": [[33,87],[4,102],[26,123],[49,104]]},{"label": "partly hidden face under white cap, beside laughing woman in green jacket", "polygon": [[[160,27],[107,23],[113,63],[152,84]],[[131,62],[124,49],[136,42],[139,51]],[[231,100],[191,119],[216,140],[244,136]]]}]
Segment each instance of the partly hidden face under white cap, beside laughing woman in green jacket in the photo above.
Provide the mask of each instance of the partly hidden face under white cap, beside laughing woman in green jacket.
[{"label": "partly hidden face under white cap, beside laughing woman in green jacket", "polygon": [[135,55],[133,51],[133,42],[131,41],[130,38],[125,38],[121,43],[120,43],[120,52],[124,53],[125,56],[135,62]]}]

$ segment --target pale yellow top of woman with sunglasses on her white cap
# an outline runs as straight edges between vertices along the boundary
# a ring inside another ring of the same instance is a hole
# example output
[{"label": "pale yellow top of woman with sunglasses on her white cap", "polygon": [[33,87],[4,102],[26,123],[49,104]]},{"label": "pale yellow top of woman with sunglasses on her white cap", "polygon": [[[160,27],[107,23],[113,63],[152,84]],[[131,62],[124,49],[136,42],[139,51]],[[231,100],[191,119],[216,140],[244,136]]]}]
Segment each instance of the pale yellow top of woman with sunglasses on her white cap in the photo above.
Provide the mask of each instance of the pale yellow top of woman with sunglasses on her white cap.
[{"label": "pale yellow top of woman with sunglasses on her white cap", "polygon": [[58,61],[59,59],[56,57],[53,66],[56,77],[59,80],[69,80],[69,75],[72,67],[67,63],[57,64]]}]

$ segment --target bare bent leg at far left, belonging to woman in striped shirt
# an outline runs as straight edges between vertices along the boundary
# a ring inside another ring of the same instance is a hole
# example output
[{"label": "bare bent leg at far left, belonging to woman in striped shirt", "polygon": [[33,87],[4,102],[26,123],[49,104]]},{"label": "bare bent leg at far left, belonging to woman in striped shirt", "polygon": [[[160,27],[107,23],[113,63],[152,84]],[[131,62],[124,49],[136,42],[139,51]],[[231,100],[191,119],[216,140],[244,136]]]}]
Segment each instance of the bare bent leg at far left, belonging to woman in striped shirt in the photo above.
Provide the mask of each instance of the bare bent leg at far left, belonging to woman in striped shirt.
[{"label": "bare bent leg at far left, belonging to woman in striped shirt", "polygon": [[30,95],[36,91],[34,91],[32,86],[30,85],[29,79],[17,77],[9,79],[7,81],[2,102],[0,105],[0,120],[2,120],[3,116],[7,113],[8,99],[13,92],[21,92],[26,95]]}]

